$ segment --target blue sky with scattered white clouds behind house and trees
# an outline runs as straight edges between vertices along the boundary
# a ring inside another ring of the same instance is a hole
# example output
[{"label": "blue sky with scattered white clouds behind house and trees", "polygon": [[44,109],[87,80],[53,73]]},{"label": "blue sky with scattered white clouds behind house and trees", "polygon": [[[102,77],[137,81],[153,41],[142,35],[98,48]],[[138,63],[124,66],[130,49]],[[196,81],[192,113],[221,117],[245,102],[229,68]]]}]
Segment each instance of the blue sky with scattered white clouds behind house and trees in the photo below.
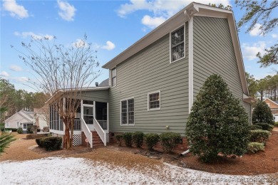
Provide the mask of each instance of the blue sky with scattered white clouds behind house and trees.
[{"label": "blue sky with scattered white clouds behind house and trees", "polygon": [[[235,6],[234,1],[195,1],[230,4],[236,21],[244,12]],[[21,41],[28,42],[31,36],[56,36],[58,43],[68,46],[86,33],[88,41],[98,50],[98,61],[102,66],[191,2],[1,0],[1,78],[9,80],[16,89],[34,91],[24,85],[28,84],[28,78],[33,78],[32,71],[18,58],[19,53],[10,47],[23,51]],[[277,15],[277,12],[273,14]],[[245,70],[257,79],[274,75],[272,68],[276,66],[259,68],[256,54],[277,43],[278,30],[261,36],[259,25],[251,33],[245,33],[246,29],[246,26],[241,28],[239,33]],[[106,78],[108,70],[103,69],[96,81],[101,83]]]}]

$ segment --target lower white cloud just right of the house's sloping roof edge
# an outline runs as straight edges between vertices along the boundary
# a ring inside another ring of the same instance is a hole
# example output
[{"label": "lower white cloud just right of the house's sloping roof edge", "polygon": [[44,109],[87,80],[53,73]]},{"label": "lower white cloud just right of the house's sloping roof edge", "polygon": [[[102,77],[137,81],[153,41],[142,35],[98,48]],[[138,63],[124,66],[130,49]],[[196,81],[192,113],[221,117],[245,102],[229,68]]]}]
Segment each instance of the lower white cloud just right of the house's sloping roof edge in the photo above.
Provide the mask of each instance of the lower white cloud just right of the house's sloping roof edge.
[{"label": "lower white cloud just right of the house's sloping roof edge", "polygon": [[266,48],[265,42],[257,42],[250,45],[249,43],[242,44],[242,56],[247,60],[253,60],[257,58],[257,53],[264,54]]}]

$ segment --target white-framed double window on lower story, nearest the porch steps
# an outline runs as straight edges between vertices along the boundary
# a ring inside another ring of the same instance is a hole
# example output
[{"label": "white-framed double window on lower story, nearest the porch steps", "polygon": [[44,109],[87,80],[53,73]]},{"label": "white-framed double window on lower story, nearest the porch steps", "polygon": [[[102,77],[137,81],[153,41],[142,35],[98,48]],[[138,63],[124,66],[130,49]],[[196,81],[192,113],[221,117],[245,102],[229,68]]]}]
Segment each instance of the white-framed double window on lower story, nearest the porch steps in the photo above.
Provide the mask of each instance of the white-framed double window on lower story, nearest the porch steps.
[{"label": "white-framed double window on lower story, nearest the porch steps", "polygon": [[120,124],[134,125],[134,98],[120,101]]}]

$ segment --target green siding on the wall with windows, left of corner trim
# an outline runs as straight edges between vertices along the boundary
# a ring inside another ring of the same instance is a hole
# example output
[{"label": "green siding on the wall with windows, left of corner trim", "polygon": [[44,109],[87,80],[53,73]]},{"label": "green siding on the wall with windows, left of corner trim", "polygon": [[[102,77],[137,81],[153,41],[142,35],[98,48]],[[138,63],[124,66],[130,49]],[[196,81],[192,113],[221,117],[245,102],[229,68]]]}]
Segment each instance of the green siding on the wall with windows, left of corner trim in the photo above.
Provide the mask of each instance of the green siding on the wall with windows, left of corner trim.
[{"label": "green siding on the wall with windows, left of corner trim", "polygon": [[[177,132],[188,117],[188,24],[185,58],[170,63],[170,34],[116,66],[117,86],[109,91],[110,132]],[[148,93],[160,91],[160,110],[148,111]],[[120,125],[120,100],[134,98],[135,125]],[[165,126],[169,126],[166,129]]]}]

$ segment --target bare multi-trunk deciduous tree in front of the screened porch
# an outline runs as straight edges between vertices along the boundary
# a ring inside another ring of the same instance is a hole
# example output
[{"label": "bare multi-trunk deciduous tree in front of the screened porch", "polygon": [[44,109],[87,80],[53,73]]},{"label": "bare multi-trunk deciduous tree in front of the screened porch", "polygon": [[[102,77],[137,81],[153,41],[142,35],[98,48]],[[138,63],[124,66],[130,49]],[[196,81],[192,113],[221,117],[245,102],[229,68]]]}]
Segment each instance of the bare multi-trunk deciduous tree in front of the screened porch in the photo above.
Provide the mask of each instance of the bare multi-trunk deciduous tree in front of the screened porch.
[{"label": "bare multi-trunk deciduous tree in front of the screened porch", "polygon": [[[99,63],[96,52],[87,43],[87,36],[71,46],[56,44],[56,37],[32,38],[30,43],[22,42],[26,52],[19,51],[26,65],[36,73],[34,87],[44,90],[55,102],[55,110],[65,125],[63,144],[73,147],[73,122],[80,106],[81,88],[89,85],[100,75],[96,70]],[[13,47],[13,46],[12,46]]]}]

